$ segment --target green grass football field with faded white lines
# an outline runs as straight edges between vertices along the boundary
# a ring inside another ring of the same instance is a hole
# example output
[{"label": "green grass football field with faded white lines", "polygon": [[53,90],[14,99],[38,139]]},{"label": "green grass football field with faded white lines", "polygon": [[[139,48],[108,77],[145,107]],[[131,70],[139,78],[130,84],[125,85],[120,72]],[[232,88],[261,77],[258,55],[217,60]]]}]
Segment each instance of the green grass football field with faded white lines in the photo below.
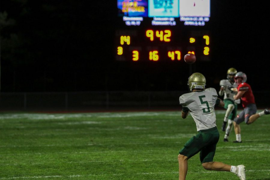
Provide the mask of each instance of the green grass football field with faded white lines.
[{"label": "green grass football field with faded white lines", "polygon": [[[258,110],[259,111],[259,110]],[[216,111],[220,130],[225,111]],[[270,116],[241,123],[243,143],[220,141],[214,161],[246,166],[247,180],[270,179]],[[1,113],[1,179],[178,179],[177,155],[196,134],[181,112]],[[188,160],[187,180],[236,180]]]}]

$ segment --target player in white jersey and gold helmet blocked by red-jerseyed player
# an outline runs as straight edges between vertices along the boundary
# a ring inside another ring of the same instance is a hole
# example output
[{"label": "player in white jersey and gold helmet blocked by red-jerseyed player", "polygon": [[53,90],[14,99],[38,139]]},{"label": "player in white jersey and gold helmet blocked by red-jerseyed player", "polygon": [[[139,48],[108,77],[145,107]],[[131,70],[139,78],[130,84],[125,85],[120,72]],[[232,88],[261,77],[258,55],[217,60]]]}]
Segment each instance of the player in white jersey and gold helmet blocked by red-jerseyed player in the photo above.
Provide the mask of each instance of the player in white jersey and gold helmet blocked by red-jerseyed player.
[{"label": "player in white jersey and gold helmet blocked by red-jerseyed player", "polygon": [[224,95],[223,101],[225,103],[224,108],[226,109],[223,125],[221,127],[222,131],[225,131],[226,124],[229,119],[228,126],[226,128],[226,132],[225,132],[225,136],[223,140],[224,142],[228,142],[228,137],[233,127],[233,120],[235,116],[237,115],[237,104],[240,103],[239,100],[237,102],[233,100],[233,95],[236,95],[237,92],[230,90],[231,88],[237,87],[237,84],[234,82],[234,76],[236,73],[237,73],[237,70],[235,68],[233,67],[229,68],[227,70],[227,79],[222,79],[219,83],[220,90],[218,94],[220,96]]}]

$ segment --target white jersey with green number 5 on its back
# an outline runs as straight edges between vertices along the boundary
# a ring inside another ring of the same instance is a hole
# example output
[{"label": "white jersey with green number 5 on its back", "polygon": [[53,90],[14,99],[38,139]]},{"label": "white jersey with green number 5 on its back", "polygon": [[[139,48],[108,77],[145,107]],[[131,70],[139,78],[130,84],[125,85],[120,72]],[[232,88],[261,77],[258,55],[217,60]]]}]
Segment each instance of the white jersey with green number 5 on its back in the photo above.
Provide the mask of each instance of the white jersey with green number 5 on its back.
[{"label": "white jersey with green number 5 on its back", "polygon": [[179,98],[182,107],[187,107],[194,119],[197,131],[214,128],[216,114],[214,106],[217,100],[217,91],[207,88],[201,92],[190,92]]}]

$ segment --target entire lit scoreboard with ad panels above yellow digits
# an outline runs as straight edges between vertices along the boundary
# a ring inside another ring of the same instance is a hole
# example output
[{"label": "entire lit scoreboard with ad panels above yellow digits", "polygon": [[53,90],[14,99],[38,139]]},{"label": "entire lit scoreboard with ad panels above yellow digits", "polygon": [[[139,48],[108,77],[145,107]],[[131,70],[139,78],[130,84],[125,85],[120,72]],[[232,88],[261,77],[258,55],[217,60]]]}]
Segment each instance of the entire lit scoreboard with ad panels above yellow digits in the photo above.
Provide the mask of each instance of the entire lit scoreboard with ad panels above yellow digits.
[{"label": "entire lit scoreboard with ad panels above yellow digits", "polygon": [[197,61],[210,61],[210,0],[189,2],[118,0],[116,60],[183,61],[185,54],[193,53]]}]

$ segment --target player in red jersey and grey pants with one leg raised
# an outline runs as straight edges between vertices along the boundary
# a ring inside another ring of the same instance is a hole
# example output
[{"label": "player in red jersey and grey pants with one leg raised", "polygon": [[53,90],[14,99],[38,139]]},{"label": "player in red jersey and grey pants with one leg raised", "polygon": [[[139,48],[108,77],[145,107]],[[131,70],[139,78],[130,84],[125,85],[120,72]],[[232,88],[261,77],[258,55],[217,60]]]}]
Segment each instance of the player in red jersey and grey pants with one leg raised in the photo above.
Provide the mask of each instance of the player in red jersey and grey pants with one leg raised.
[{"label": "player in red jersey and grey pants with one leg raised", "polygon": [[243,72],[238,72],[234,76],[235,82],[238,85],[237,88],[232,88],[231,90],[237,91],[237,94],[233,97],[234,100],[241,98],[242,106],[244,108],[236,118],[234,119],[234,131],[236,136],[236,141],[234,143],[242,143],[241,140],[241,129],[240,123],[245,122],[247,125],[253,123],[260,116],[265,114],[270,114],[270,110],[266,108],[264,111],[260,113],[256,113],[257,107],[255,104],[255,98],[252,92],[252,89],[249,84],[246,83],[247,76]]}]

